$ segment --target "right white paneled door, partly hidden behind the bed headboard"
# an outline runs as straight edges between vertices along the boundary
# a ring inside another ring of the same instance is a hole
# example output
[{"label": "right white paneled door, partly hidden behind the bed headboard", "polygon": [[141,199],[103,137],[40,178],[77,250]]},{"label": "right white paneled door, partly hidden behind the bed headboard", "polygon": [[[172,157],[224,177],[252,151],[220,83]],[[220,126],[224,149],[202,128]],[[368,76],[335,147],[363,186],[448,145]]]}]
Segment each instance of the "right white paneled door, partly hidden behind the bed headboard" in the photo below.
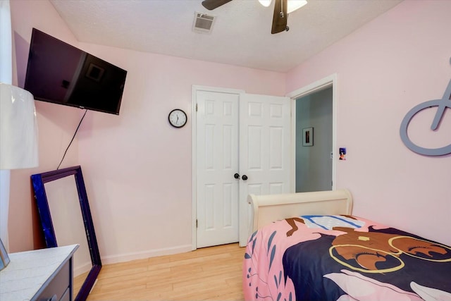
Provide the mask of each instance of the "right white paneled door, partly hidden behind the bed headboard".
[{"label": "right white paneled door, partly hidden behind the bed headboard", "polygon": [[[247,195],[290,192],[290,99],[240,95],[240,246],[250,233]],[[244,178],[243,178],[244,177]],[[246,180],[245,180],[246,179]]]}]

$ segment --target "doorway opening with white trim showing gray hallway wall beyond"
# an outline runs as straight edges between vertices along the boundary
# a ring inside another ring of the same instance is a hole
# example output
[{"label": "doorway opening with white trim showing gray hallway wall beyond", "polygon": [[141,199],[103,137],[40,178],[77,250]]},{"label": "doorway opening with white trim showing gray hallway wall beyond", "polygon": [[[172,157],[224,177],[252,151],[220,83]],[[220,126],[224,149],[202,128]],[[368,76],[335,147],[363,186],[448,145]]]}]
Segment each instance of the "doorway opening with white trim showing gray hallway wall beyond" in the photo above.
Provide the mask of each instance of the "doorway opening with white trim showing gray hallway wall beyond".
[{"label": "doorway opening with white trim showing gray hallway wall beyond", "polygon": [[336,189],[336,82],[337,75],[330,75],[287,95],[292,99],[295,192]]}]

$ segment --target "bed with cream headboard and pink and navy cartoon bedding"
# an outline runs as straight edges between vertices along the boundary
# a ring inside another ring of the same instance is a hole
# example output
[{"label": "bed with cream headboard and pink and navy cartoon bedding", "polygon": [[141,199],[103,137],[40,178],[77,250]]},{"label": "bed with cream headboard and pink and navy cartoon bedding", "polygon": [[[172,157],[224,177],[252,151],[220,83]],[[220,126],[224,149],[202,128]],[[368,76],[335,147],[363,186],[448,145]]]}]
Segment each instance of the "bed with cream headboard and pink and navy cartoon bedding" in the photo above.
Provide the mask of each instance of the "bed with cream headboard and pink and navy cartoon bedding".
[{"label": "bed with cream headboard and pink and navy cartoon bedding", "polygon": [[348,190],[248,202],[245,300],[451,301],[451,247],[352,216]]}]

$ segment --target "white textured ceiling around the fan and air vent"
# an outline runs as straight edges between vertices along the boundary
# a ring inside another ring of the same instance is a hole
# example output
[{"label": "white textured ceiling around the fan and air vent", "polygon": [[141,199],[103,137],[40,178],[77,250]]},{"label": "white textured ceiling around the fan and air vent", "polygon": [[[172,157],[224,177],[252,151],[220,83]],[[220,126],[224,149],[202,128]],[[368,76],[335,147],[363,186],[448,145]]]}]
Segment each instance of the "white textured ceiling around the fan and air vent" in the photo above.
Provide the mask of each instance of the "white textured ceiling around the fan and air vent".
[{"label": "white textured ceiling around the fan and air vent", "polygon": [[[208,11],[202,0],[50,0],[80,42],[286,72],[388,11],[399,0],[308,0],[271,35],[273,4],[233,0]],[[192,31],[194,12],[216,16]]]}]

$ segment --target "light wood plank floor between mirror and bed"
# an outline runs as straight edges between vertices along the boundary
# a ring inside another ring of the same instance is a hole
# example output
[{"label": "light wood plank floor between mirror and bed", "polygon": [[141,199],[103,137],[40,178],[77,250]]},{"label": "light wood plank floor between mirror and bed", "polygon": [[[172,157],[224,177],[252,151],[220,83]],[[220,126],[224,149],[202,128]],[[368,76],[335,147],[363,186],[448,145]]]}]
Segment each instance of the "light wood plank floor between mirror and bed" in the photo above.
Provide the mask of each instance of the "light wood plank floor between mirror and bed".
[{"label": "light wood plank floor between mirror and bed", "polygon": [[87,300],[243,300],[244,255],[231,244],[107,264]]}]

